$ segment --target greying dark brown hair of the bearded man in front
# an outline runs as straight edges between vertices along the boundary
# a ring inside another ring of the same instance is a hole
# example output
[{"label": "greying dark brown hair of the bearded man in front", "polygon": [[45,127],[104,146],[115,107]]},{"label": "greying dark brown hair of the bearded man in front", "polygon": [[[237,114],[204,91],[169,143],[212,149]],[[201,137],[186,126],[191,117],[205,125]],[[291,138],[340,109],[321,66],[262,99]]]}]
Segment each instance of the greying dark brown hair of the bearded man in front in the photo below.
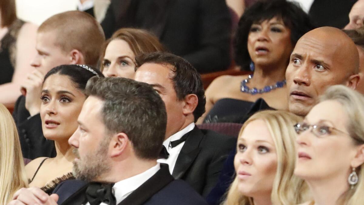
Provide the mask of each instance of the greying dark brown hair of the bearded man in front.
[{"label": "greying dark brown hair of the bearded man in front", "polygon": [[104,101],[101,116],[107,134],[123,132],[139,158],[158,158],[165,138],[167,113],[152,86],[127,78],[91,78],[86,94]]}]

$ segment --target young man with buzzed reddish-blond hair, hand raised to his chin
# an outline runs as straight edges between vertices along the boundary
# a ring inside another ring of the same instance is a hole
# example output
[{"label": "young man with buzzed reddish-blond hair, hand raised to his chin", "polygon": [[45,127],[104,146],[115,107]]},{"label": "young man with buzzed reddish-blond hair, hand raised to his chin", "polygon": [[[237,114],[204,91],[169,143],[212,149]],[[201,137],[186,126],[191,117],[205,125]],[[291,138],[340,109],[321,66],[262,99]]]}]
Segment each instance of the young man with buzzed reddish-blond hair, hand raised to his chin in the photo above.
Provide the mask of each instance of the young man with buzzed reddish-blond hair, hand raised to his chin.
[{"label": "young man with buzzed reddish-blond hair, hand raised to his chin", "polygon": [[[105,37],[98,22],[87,13],[68,11],[51,16],[37,30],[36,50],[13,117],[18,128],[24,158],[55,156],[54,142],[43,136],[40,120],[40,96],[44,76],[63,64],[96,66]],[[25,97],[26,96],[26,97]]]}]

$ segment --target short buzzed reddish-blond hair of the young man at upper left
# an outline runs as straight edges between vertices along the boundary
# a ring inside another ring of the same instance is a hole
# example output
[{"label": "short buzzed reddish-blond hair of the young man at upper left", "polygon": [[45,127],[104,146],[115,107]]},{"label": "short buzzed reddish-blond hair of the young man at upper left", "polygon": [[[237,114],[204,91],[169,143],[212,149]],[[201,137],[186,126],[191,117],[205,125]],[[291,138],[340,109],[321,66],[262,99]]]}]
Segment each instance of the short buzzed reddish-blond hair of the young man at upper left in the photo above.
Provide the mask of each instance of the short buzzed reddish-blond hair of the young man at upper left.
[{"label": "short buzzed reddish-blond hair of the young man at upper left", "polygon": [[97,66],[105,35],[101,25],[90,14],[82,11],[67,11],[45,20],[38,28],[40,32],[53,32],[56,46],[65,53],[80,51],[84,62]]}]

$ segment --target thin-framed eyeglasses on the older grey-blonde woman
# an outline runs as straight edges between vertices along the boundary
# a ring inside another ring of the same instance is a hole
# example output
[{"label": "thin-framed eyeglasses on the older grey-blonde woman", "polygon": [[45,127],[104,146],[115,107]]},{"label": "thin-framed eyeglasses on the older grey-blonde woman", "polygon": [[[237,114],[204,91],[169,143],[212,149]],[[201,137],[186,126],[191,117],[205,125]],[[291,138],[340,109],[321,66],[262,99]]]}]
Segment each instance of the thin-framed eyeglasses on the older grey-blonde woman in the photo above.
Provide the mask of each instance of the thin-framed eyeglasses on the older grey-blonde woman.
[{"label": "thin-framed eyeglasses on the older grey-blonde woman", "polygon": [[295,124],[293,127],[294,127],[294,130],[297,132],[297,134],[301,134],[302,132],[307,131],[310,129],[310,127],[312,127],[311,132],[314,135],[316,135],[317,137],[323,137],[325,135],[330,135],[330,134],[332,134],[333,131],[340,132],[344,135],[350,136],[346,132],[343,132],[339,129],[336,129],[335,127],[330,127],[330,126],[324,125],[324,124],[310,125],[310,124],[301,122],[301,123]]}]

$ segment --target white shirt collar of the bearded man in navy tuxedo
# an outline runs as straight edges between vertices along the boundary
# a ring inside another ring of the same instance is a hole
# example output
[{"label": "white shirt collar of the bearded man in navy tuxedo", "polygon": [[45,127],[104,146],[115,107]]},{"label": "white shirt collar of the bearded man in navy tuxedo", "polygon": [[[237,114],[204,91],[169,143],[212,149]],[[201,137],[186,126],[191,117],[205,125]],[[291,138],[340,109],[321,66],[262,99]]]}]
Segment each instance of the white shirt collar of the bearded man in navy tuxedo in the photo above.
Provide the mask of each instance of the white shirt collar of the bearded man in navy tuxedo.
[{"label": "white shirt collar of the bearded man in navy tuxedo", "polygon": [[[116,199],[116,204],[119,204],[127,196],[129,196],[132,192],[134,192],[135,189],[138,189],[139,186],[141,186],[155,173],[157,173],[159,169],[161,169],[161,166],[159,163],[157,163],[157,165],[155,165],[154,167],[150,168],[149,170],[141,174],[116,182],[112,187]],[[90,203],[87,202],[86,205],[90,205]],[[107,205],[107,204],[101,203],[100,205]]]}]

